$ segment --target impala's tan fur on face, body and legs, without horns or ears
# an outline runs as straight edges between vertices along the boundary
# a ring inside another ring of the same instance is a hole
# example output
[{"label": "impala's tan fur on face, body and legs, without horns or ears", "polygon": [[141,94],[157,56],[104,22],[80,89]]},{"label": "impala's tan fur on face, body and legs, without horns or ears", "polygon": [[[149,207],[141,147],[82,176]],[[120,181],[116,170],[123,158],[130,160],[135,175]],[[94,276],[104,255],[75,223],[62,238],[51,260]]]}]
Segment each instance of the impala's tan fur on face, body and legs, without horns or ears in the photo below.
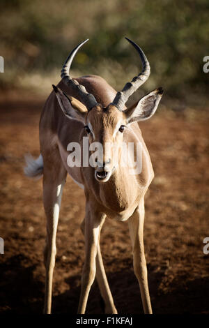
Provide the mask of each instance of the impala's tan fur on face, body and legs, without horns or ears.
[{"label": "impala's tan fur on face, body and legs, without horns or ears", "polygon": [[[68,144],[81,142],[82,137],[87,134],[81,121],[65,117],[54,91],[50,94],[40,117],[40,152],[44,162],[43,201],[47,216],[45,313],[51,312],[56,228],[61,204],[61,190],[67,173],[84,186],[86,195],[86,214],[82,225],[85,235],[86,260],[82,274],[82,292],[78,313],[85,313],[88,293],[95,275],[104,298],[106,312],[117,313],[107,283],[99,245],[100,230],[106,216],[118,221],[128,220],[134,254],[134,272],[139,280],[144,312],[151,313],[143,243],[144,195],[154,176],[150,156],[136,122],[128,126],[124,133],[115,133],[116,136],[113,137],[118,121],[125,124],[125,114],[118,111],[114,105],[109,105],[114,99],[116,91],[101,77],[95,75],[79,77],[77,81],[84,85],[86,90],[93,94],[98,103],[102,105],[102,107],[98,105],[86,112],[85,122],[86,124],[91,123],[95,133],[95,140],[92,136],[89,137],[90,143],[98,141],[104,144],[115,141],[119,145],[121,142],[134,142],[134,144],[141,142],[142,172],[137,176],[130,175],[127,168],[121,167],[121,163],[118,161],[119,149],[109,164],[109,170],[115,164],[117,165],[116,170],[105,183],[100,183],[95,179],[93,167],[68,167]],[[60,82],[58,87],[66,94],[75,96],[63,82]],[[80,107],[78,100],[73,100],[73,105],[77,108]],[[82,107],[84,111],[84,105]],[[105,107],[107,109],[104,110]],[[108,161],[105,156],[104,149],[104,161]]]}]

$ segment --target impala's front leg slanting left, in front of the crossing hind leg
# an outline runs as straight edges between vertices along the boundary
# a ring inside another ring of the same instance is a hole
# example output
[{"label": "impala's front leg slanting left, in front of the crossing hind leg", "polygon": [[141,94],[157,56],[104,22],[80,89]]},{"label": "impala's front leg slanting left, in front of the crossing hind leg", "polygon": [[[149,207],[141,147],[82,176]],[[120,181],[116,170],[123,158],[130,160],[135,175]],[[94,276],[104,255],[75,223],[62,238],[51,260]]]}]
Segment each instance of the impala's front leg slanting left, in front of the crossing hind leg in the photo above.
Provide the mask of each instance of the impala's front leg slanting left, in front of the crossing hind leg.
[{"label": "impala's front leg slanting left, in front of the crossing hind leg", "polygon": [[86,303],[91,285],[95,279],[96,264],[95,258],[97,255],[98,239],[100,234],[100,225],[104,220],[104,215],[91,210],[86,204],[85,216],[85,253],[86,258],[82,271],[82,291],[79,300],[78,313],[84,314],[86,311]]}]

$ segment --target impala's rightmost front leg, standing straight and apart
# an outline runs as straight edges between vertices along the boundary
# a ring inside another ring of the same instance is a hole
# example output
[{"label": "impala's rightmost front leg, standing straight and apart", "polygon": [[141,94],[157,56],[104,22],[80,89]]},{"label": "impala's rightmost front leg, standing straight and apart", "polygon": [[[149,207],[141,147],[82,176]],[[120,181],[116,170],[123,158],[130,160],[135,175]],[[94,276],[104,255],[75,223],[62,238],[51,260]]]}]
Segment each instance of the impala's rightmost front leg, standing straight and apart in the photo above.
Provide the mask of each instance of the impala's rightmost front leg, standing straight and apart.
[{"label": "impala's rightmost front leg, standing straight and apart", "polygon": [[128,225],[134,255],[134,274],[139,281],[144,313],[151,314],[152,306],[150,303],[146,258],[144,254],[144,199],[141,200],[139,207],[137,207],[129,218]]}]

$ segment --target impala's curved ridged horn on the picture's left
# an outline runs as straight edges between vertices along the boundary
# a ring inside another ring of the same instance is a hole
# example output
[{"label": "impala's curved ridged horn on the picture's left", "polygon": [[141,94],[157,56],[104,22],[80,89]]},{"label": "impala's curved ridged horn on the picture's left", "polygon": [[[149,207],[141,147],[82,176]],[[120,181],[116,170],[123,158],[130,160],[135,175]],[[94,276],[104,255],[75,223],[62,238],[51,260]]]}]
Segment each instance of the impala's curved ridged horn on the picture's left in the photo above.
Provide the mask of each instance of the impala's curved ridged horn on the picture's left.
[{"label": "impala's curved ridged horn on the picture's left", "polygon": [[77,80],[73,80],[72,77],[70,77],[70,66],[72,64],[72,60],[74,59],[75,54],[77,54],[79,48],[82,47],[82,45],[84,45],[84,43],[86,43],[87,41],[88,39],[82,43],[79,43],[79,45],[77,45],[77,47],[75,47],[75,49],[70,52],[61,70],[61,78],[63,82],[67,84],[74,92],[75,96],[77,96],[79,100],[84,103],[87,110],[91,110],[93,106],[98,105],[97,100],[95,100],[93,94],[88,94],[86,88],[83,85],[79,84]]}]

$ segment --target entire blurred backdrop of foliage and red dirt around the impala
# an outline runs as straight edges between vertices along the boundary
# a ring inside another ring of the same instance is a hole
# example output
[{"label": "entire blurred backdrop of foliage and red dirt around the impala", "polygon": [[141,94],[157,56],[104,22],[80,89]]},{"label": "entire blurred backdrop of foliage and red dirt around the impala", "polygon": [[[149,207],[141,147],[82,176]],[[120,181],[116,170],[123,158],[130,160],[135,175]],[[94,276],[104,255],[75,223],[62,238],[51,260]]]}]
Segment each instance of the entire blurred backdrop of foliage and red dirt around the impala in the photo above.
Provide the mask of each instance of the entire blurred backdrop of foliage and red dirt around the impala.
[{"label": "entire blurred backdrop of foliage and red dirt around the impala", "polygon": [[[144,241],[154,313],[209,313],[208,0],[1,0],[0,313],[41,313],[45,269],[42,179],[23,174],[24,154],[40,154],[38,122],[52,84],[75,45],[89,38],[72,76],[97,74],[116,90],[139,73],[134,40],[150,61],[149,80],[130,99],[163,87],[152,119],[140,124],[155,179],[146,195]],[[70,133],[70,131],[69,131]],[[85,198],[68,177],[57,234],[53,313],[76,313],[84,262],[79,225]],[[104,266],[118,313],[143,313],[127,222],[107,218]],[[87,313],[102,313],[98,286]]]}]

